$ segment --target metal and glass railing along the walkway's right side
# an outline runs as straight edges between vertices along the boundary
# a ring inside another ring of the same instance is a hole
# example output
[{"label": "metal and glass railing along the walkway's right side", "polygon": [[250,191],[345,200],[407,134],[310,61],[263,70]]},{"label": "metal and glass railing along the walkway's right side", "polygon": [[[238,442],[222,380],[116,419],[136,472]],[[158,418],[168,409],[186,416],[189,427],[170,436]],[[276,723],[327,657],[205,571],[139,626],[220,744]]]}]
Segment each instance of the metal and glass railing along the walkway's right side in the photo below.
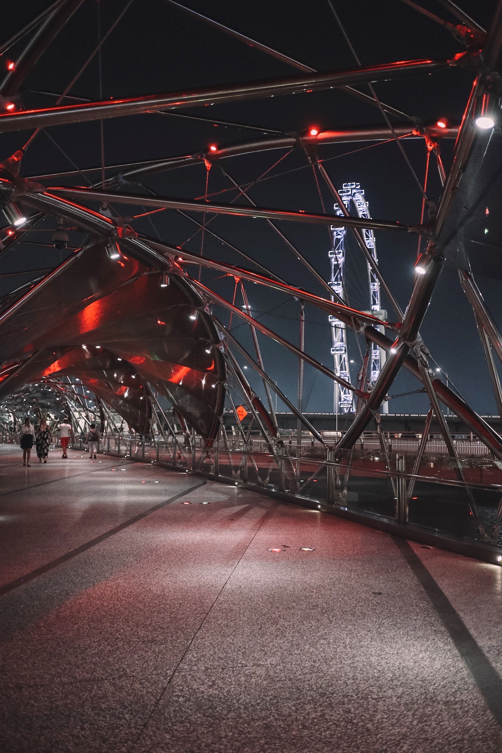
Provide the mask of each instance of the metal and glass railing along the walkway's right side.
[{"label": "metal and glass railing along the walkway's right side", "polygon": [[[14,442],[18,435],[0,435]],[[57,444],[58,437],[53,437]],[[407,441],[407,440],[398,440]],[[440,441],[432,440],[440,444]],[[370,447],[368,447],[370,444]],[[76,437],[73,450],[87,450]],[[418,449],[418,448],[417,448]],[[334,458],[333,447],[275,447],[237,437],[207,447],[202,437],[154,438],[105,434],[100,453],[162,465],[175,471],[231,483],[313,510],[348,517],[461,553],[502,562],[502,464],[488,458],[462,458],[461,477],[453,459],[424,453],[413,474],[415,456],[382,452],[370,437]],[[499,559],[500,558],[500,559]]]}]

